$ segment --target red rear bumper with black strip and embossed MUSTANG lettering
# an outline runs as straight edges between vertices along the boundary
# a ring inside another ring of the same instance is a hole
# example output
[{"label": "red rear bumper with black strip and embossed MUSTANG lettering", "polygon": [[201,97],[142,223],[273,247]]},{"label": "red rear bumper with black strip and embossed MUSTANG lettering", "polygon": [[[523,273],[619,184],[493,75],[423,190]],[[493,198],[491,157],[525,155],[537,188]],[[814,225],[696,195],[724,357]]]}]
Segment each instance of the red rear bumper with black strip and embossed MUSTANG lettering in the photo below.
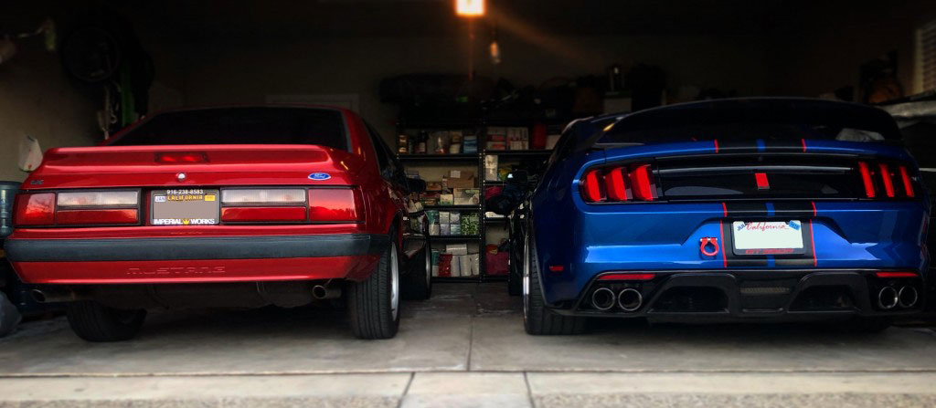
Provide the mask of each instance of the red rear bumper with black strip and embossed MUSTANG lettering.
[{"label": "red rear bumper with black strip and embossed MUSTANG lettering", "polygon": [[389,237],[370,233],[7,240],[33,284],[156,284],[350,279],[373,271]]}]

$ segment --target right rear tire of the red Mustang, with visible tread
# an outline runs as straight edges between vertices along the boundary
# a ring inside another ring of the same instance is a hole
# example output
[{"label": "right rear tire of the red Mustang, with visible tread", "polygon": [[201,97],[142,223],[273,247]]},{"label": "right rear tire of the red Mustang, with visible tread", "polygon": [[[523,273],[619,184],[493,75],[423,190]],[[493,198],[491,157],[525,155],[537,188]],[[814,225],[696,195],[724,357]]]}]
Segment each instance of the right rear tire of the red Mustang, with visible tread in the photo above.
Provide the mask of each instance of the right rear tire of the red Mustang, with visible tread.
[{"label": "right rear tire of the red Mustang, with visible tread", "polygon": [[[391,232],[390,236],[395,234]],[[390,246],[380,256],[373,274],[362,282],[348,283],[348,317],[351,331],[358,339],[389,339],[400,328],[400,260],[397,257],[396,240],[390,241]],[[393,299],[394,280],[397,285],[396,300]],[[396,309],[393,307],[394,302]]]}]

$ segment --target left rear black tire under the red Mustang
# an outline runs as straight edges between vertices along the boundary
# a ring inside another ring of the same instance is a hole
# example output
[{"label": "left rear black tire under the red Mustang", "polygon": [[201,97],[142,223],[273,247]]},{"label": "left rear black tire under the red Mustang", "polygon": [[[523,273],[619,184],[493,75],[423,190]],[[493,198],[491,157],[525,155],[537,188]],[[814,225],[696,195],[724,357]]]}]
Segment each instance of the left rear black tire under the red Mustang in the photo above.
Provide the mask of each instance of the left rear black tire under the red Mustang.
[{"label": "left rear black tire under the red Mustang", "polygon": [[66,306],[68,324],[88,342],[122,342],[137,336],[146,320],[146,311],[121,310],[98,302],[70,302]]}]

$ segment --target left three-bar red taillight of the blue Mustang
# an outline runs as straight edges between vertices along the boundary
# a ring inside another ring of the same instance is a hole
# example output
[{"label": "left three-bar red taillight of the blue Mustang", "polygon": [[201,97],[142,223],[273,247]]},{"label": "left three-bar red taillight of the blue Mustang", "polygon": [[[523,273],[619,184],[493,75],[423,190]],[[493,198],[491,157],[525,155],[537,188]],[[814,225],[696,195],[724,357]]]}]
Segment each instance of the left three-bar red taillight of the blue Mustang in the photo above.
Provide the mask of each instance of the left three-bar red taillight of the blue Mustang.
[{"label": "left three-bar red taillight of the blue Mustang", "polygon": [[589,170],[581,181],[582,198],[588,203],[653,201],[656,183],[650,164],[631,164]]}]

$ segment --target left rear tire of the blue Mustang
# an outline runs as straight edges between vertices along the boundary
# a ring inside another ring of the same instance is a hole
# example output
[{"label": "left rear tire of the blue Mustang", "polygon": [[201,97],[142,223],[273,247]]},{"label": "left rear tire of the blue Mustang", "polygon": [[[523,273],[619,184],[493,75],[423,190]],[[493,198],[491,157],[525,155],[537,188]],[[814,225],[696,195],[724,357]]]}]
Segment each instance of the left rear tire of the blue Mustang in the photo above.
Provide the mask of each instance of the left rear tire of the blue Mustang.
[{"label": "left rear tire of the blue Mustang", "polygon": [[558,315],[546,307],[543,288],[539,283],[539,261],[536,259],[536,246],[530,238],[533,231],[527,230],[526,261],[523,266],[523,279],[527,280],[527,293],[523,296],[523,327],[528,334],[534,335],[569,335],[585,332],[588,319]]}]

